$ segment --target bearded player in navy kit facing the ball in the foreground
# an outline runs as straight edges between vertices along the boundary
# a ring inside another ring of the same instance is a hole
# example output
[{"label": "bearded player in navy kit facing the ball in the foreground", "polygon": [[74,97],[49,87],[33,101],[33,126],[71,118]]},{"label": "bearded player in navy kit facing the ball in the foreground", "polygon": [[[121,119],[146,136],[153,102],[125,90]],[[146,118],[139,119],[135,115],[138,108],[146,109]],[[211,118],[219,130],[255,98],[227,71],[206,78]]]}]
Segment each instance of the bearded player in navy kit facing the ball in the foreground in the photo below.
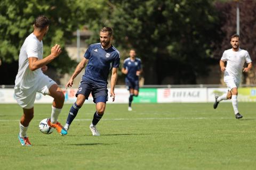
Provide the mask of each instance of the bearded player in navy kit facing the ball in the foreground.
[{"label": "bearded player in navy kit facing the ball in the foreground", "polygon": [[106,102],[108,100],[108,74],[112,69],[110,97],[112,97],[112,100],[114,101],[114,89],[120,63],[119,52],[111,45],[112,40],[113,30],[110,27],[103,27],[100,30],[100,43],[89,46],[84,54],[84,58],[77,65],[75,72],[66,84],[66,88],[72,87],[77,74],[83,70],[87,63],[85,73],[76,93],[76,102],[71,106],[66,125],[64,126],[66,130],[69,129],[69,126],[76,117],[79,108],[82,107],[84,101],[88,99],[90,93],[92,93],[93,102],[96,104],[96,112],[94,113],[92,123],[90,124],[90,129],[92,131],[92,135],[100,135],[96,129],[96,125],[104,114]]}]

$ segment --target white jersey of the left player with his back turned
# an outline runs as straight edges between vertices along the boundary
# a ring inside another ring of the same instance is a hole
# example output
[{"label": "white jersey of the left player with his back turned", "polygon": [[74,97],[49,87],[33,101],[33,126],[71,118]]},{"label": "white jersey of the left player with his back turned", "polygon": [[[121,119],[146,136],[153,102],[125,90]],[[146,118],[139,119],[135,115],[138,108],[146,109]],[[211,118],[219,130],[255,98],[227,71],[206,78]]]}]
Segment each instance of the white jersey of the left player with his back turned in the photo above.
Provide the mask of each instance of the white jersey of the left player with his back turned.
[{"label": "white jersey of the left player with his back turned", "polygon": [[43,41],[39,41],[34,33],[31,33],[24,41],[19,55],[19,70],[15,79],[15,87],[29,89],[37,84],[39,75],[43,74],[41,69],[31,71],[28,58],[37,57],[43,59]]}]

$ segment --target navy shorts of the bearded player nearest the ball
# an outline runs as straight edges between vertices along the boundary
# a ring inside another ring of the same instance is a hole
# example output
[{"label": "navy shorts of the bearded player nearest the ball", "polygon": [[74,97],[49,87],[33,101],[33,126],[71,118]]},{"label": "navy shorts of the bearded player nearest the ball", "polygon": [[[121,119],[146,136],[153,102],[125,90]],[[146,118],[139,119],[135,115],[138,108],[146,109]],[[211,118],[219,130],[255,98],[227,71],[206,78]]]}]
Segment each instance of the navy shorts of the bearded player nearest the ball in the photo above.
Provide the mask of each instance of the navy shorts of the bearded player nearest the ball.
[{"label": "navy shorts of the bearded player nearest the ball", "polygon": [[101,86],[98,86],[97,84],[81,81],[78,87],[78,91],[76,92],[76,97],[79,94],[82,94],[85,96],[85,99],[88,100],[90,93],[92,93],[94,103],[99,103],[99,102],[106,103],[108,101],[107,87],[101,87]]}]

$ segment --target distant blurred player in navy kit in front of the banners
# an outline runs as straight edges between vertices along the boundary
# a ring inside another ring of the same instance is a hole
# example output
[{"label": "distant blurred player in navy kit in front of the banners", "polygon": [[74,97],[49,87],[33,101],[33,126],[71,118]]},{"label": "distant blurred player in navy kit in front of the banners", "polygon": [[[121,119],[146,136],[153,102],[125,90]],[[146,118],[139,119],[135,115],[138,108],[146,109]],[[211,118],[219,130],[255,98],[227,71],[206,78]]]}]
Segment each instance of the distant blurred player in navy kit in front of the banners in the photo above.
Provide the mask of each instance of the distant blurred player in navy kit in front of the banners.
[{"label": "distant blurred player in navy kit in front of the banners", "polygon": [[130,57],[124,60],[122,73],[126,74],[125,84],[127,89],[130,91],[128,111],[132,111],[133,96],[139,95],[139,76],[142,69],[141,60],[136,57],[134,49],[130,50],[129,56]]}]

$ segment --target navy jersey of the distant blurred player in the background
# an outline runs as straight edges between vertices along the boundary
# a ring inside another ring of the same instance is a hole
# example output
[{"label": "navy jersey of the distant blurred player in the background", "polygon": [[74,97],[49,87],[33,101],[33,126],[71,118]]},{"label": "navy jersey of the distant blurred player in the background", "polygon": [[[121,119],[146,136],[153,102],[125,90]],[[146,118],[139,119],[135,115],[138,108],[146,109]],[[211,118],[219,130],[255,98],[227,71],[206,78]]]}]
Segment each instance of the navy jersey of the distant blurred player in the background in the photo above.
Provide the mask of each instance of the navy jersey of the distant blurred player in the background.
[{"label": "navy jersey of the distant blurred player in the background", "polygon": [[136,75],[136,72],[141,69],[141,61],[140,58],[135,58],[135,60],[131,60],[131,58],[126,58],[124,60],[124,69],[128,70],[126,74],[126,79],[129,81],[137,81],[139,80],[139,76]]}]

